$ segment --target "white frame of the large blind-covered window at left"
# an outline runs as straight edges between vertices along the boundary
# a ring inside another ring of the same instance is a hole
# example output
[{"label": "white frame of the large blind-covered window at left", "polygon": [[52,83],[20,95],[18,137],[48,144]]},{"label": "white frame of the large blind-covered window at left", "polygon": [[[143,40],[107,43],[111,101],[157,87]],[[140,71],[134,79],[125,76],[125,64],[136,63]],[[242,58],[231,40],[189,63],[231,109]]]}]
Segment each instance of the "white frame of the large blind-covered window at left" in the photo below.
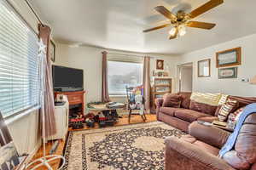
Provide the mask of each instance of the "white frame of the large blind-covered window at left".
[{"label": "white frame of the large blind-covered window at left", "polygon": [[[15,6],[10,3],[8,0],[1,0],[1,1],[4,1],[5,3],[7,3],[7,5],[9,6],[9,8],[11,8],[11,12],[13,12],[15,14],[15,16],[17,17],[17,19],[19,19],[21,22],[23,22],[23,24],[26,26],[26,28],[32,32],[32,34],[34,34],[35,37],[38,38],[38,41],[39,41],[39,37],[38,37],[38,32],[35,31],[32,26],[29,25],[29,23],[25,20],[25,18],[20,14],[20,12],[15,8]],[[40,64],[40,59],[38,59],[38,85],[41,84],[40,82],[40,75],[41,75],[41,71],[40,71],[40,68],[41,68],[41,64]],[[7,123],[9,124],[10,122],[13,122],[17,119],[20,119],[21,117],[23,116],[26,116],[30,113],[32,113],[32,111],[38,111],[40,108],[41,108],[41,105],[40,105],[40,88],[38,88],[38,104],[35,104],[35,105],[30,105],[28,107],[26,107],[26,109],[23,109],[23,110],[20,110],[20,111],[16,111],[15,113],[13,114],[10,114],[10,115],[6,115],[4,116],[3,113],[2,113],[2,116],[3,116],[3,119],[7,120]],[[32,91],[30,90],[29,91],[29,96],[31,96],[32,94]]]}]

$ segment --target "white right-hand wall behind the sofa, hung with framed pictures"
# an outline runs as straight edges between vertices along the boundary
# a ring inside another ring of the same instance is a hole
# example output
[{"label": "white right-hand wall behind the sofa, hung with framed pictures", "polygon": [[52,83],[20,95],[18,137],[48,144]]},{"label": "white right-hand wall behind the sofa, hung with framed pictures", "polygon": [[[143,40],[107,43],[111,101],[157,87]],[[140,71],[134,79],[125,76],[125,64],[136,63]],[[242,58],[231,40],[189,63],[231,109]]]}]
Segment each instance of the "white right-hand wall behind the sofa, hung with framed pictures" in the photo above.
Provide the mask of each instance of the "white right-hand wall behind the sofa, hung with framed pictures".
[{"label": "white right-hand wall behind the sofa, hung with framed pictures", "polygon": [[[211,41],[211,40],[209,40]],[[241,96],[256,96],[256,86],[241,82],[242,78],[252,78],[256,75],[256,34],[241,37],[230,42],[220,43],[189,54],[183,54],[180,64],[193,62],[193,91],[223,93]],[[241,65],[238,68],[237,79],[218,79],[216,68],[216,52],[230,48],[241,47]],[[197,61],[211,59],[211,77],[197,77]]]}]

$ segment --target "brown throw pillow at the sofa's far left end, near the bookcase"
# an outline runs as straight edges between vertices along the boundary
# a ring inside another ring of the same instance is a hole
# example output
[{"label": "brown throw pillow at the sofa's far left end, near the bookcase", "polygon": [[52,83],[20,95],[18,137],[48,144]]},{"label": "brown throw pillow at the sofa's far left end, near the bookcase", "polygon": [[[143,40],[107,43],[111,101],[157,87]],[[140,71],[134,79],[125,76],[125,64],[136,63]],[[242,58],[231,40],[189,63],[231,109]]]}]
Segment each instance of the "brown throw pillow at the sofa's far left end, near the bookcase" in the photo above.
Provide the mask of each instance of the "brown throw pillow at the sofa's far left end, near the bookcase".
[{"label": "brown throw pillow at the sofa's far left end, near the bookcase", "polygon": [[178,94],[165,94],[163,96],[163,107],[180,108],[182,97]]}]

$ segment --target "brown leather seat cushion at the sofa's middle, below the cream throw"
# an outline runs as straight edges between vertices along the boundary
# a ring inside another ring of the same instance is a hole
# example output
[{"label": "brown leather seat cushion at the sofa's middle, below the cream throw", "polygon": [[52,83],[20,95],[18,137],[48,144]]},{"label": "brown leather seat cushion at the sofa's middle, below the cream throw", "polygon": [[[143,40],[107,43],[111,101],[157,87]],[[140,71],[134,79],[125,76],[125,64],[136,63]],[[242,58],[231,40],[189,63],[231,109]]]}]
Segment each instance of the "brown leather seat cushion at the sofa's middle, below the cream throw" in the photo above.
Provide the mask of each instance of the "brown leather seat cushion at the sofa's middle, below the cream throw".
[{"label": "brown leather seat cushion at the sofa's middle, below the cream throw", "polygon": [[205,113],[201,113],[199,111],[180,109],[174,112],[174,116],[187,122],[194,122],[200,117],[209,116],[209,115]]}]

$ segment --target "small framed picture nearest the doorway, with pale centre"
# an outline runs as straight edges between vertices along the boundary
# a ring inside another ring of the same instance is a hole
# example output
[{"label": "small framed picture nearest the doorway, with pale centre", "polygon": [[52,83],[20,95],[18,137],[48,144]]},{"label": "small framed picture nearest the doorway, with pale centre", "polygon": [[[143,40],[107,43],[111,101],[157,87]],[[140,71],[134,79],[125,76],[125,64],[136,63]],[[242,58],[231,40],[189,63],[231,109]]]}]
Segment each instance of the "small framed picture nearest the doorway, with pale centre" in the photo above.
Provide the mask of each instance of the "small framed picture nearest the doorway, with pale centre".
[{"label": "small framed picture nearest the doorway, with pale centre", "polygon": [[211,59],[200,60],[197,66],[198,77],[211,77]]}]

